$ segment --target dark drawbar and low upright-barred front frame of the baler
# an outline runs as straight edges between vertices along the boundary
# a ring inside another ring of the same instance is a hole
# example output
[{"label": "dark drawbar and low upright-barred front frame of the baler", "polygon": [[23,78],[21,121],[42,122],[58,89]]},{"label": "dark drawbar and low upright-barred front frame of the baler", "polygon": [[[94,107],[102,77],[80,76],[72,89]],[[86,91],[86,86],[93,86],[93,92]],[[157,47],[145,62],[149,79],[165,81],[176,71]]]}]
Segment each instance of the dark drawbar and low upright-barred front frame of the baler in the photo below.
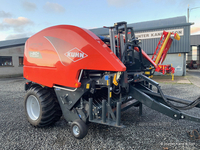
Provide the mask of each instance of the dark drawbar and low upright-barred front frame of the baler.
[{"label": "dark drawbar and low upright-barred front frame of the baler", "polygon": [[[116,127],[124,127],[121,124],[121,118],[120,118],[121,111],[127,110],[132,106],[136,106],[134,102],[138,101],[140,102],[137,105],[139,106],[139,115],[142,115],[142,105],[144,104],[147,107],[156,110],[164,115],[167,115],[175,120],[184,119],[184,120],[200,122],[200,118],[185,114],[178,109],[168,106],[163,99],[165,98],[168,101],[184,105],[190,104],[191,101],[164,95],[159,84],[143,74],[139,74],[137,78],[140,81],[142,80],[142,82],[135,82],[135,83],[133,82],[132,84],[130,84],[129,93],[127,93],[127,95],[131,96],[133,99],[127,102],[129,104],[126,105],[125,107],[122,107],[122,103],[119,100],[116,104],[117,106],[116,109],[112,111],[112,109],[110,108],[110,100],[108,99],[108,102],[106,102],[106,100],[103,100],[101,119],[94,118],[93,107],[92,107],[93,99],[90,98],[89,121]],[[155,86],[157,88],[157,92],[152,91],[152,86]],[[200,108],[200,104],[196,105],[195,107]]]}]

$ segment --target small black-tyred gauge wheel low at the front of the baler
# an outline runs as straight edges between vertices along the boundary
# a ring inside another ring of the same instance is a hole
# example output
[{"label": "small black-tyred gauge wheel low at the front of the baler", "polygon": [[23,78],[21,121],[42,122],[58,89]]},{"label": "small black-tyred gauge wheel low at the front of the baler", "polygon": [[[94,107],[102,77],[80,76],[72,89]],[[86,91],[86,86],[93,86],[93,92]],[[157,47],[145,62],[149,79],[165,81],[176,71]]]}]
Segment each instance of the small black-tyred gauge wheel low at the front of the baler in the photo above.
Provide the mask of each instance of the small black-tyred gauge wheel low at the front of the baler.
[{"label": "small black-tyred gauge wheel low at the front of the baler", "polygon": [[88,133],[88,127],[81,119],[75,120],[71,125],[72,135],[77,139],[84,138]]}]

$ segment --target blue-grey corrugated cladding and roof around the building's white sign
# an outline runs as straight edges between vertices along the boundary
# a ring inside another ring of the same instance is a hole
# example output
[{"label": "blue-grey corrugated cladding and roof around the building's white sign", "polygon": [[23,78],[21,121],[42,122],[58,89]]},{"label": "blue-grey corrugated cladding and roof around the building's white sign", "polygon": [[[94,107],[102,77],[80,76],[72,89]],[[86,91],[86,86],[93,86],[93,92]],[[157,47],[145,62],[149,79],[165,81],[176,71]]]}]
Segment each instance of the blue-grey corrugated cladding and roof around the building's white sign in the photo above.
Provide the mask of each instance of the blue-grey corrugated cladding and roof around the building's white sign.
[{"label": "blue-grey corrugated cladding and roof around the building's white sign", "polygon": [[[184,35],[181,36],[180,41],[174,40],[168,54],[172,53],[188,53],[190,51],[190,25],[186,23],[186,17],[174,17],[168,19],[160,19],[139,23],[128,24],[128,27],[133,27],[135,33],[137,32],[153,32],[171,29],[182,29]],[[108,29],[97,28],[91,29],[96,35],[108,35]],[[149,55],[153,54],[160,38],[142,39],[141,47]]]}]

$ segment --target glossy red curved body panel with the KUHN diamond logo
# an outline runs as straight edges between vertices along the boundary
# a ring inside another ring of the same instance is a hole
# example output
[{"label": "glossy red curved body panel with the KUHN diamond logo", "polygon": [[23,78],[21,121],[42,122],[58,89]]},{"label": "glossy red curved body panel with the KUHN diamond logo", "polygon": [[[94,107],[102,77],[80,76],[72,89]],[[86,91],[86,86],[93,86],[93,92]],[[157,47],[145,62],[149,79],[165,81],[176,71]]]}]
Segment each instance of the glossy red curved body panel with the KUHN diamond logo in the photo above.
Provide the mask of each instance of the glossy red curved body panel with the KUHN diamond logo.
[{"label": "glossy red curved body panel with the KUHN diamond logo", "polygon": [[71,25],[44,29],[25,44],[24,77],[44,86],[80,87],[80,70],[125,71],[94,33]]}]

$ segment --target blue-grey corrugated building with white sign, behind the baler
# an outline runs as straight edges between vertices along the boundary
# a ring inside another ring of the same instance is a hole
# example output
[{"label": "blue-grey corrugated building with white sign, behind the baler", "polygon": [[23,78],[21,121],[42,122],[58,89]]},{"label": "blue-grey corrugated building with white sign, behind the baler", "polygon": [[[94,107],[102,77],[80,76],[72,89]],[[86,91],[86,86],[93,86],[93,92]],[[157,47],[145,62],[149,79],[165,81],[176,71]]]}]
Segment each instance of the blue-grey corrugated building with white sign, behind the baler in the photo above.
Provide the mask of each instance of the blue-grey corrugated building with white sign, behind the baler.
[{"label": "blue-grey corrugated building with white sign, behind the baler", "polygon": [[[141,48],[151,57],[156,49],[163,30],[170,32],[178,32],[180,41],[174,40],[168,55],[163,64],[172,64],[175,68],[176,76],[184,76],[186,74],[186,53],[190,51],[190,26],[191,23],[186,22],[186,17],[175,17],[140,23],[128,24],[133,27],[136,37],[141,39]],[[107,36],[109,30],[107,28],[92,29],[96,35]],[[156,73],[158,75],[160,73]]]}]

